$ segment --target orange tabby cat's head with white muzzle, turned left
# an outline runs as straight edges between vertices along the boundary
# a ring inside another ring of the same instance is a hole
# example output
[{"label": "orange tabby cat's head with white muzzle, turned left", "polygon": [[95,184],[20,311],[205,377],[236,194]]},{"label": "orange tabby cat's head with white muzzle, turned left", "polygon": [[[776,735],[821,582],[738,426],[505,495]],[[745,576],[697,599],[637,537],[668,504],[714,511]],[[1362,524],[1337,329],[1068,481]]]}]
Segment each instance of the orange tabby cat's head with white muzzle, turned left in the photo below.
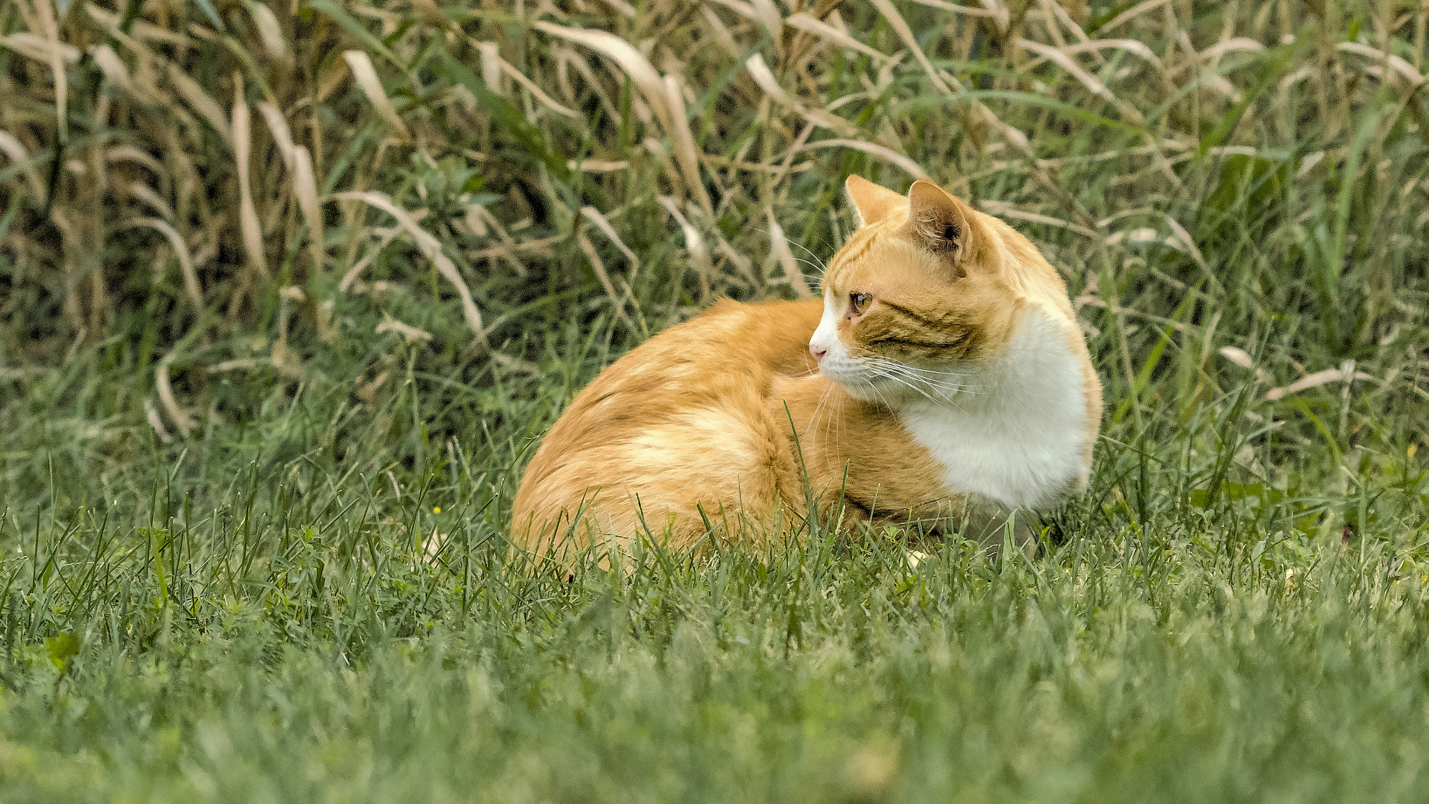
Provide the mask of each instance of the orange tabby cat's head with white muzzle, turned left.
[{"label": "orange tabby cat's head with white muzzle, turned left", "polygon": [[857,176],[846,189],[860,226],[823,275],[820,372],[870,402],[970,391],[1016,325],[1010,230],[926,179],[906,197]]}]

